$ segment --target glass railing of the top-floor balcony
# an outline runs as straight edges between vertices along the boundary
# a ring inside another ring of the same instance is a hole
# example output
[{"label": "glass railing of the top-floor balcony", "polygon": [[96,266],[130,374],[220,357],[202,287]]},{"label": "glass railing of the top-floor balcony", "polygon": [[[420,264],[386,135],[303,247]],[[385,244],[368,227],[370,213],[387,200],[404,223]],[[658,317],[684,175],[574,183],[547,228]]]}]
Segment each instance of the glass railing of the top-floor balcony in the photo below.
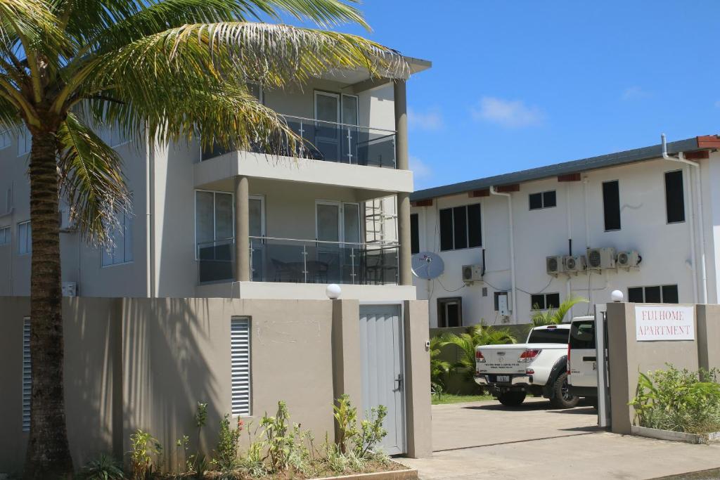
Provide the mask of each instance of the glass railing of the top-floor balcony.
[{"label": "glass railing of the top-floor balcony", "polygon": [[[312,158],[328,162],[350,163],[352,165],[395,168],[395,132],[379,128],[361,127],[334,122],[324,122],[302,117],[284,115],[288,126],[302,137],[294,153],[289,156]],[[286,148],[287,149],[287,148]],[[273,148],[280,150],[283,148]],[[209,160],[229,150],[213,148],[203,152],[202,160]],[[264,149],[251,148],[261,153]]]}]

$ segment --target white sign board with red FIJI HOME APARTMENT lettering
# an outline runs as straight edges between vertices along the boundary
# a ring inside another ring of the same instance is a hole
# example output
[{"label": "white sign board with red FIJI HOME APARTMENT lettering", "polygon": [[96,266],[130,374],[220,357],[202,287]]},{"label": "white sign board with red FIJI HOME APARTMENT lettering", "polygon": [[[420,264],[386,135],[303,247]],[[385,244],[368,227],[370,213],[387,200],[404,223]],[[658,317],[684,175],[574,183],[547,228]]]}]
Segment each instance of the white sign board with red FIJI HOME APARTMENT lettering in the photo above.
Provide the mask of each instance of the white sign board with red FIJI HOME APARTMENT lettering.
[{"label": "white sign board with red FIJI HOME APARTMENT lettering", "polygon": [[695,307],[636,305],[635,331],[638,342],[695,340]]}]

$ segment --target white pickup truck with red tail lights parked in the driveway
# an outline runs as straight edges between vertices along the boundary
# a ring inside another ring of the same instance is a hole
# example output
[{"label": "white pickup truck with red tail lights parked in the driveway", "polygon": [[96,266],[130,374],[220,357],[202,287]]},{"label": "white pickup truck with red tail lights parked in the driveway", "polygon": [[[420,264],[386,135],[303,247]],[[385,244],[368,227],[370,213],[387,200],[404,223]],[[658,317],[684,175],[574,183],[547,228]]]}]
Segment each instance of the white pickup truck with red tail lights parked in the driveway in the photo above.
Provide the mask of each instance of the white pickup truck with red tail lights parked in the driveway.
[{"label": "white pickup truck with red tail lights parked in the driveway", "polygon": [[575,407],[567,386],[570,324],[534,327],[526,343],[481,345],[475,349],[475,382],[501,404],[517,406],[528,393],[550,399],[553,407]]}]

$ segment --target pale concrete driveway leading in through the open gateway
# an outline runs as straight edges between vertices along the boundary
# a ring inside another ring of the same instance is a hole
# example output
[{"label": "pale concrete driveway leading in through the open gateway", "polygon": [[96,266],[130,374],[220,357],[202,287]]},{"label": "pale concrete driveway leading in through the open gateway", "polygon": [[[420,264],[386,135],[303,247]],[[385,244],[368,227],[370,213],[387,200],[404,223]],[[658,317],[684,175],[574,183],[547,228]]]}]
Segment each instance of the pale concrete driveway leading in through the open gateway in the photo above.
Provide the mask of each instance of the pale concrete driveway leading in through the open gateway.
[{"label": "pale concrete driveway leading in through the open gateway", "polygon": [[720,445],[688,445],[595,427],[592,407],[542,399],[433,406],[433,458],[400,458],[435,479],[654,479],[720,467]]}]

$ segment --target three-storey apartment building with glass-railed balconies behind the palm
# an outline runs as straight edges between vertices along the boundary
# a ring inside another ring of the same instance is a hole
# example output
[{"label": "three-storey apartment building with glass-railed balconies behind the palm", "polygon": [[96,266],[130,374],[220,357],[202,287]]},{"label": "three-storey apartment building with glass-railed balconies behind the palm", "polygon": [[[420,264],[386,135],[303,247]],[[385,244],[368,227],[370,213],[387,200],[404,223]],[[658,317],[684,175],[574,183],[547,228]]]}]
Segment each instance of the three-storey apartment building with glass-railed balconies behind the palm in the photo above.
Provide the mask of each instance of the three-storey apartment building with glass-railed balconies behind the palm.
[{"label": "three-storey apartment building with glass-railed balconies behind the palm", "polygon": [[[407,60],[411,74],[431,65]],[[100,132],[124,160],[133,214],[107,250],[59,212],[66,293],[326,299],[338,283],[343,298],[415,299],[399,241],[413,191],[405,81],[335,71],[257,95],[305,138],[302,158]],[[0,296],[30,294],[29,150],[29,135],[0,135]]]}]

